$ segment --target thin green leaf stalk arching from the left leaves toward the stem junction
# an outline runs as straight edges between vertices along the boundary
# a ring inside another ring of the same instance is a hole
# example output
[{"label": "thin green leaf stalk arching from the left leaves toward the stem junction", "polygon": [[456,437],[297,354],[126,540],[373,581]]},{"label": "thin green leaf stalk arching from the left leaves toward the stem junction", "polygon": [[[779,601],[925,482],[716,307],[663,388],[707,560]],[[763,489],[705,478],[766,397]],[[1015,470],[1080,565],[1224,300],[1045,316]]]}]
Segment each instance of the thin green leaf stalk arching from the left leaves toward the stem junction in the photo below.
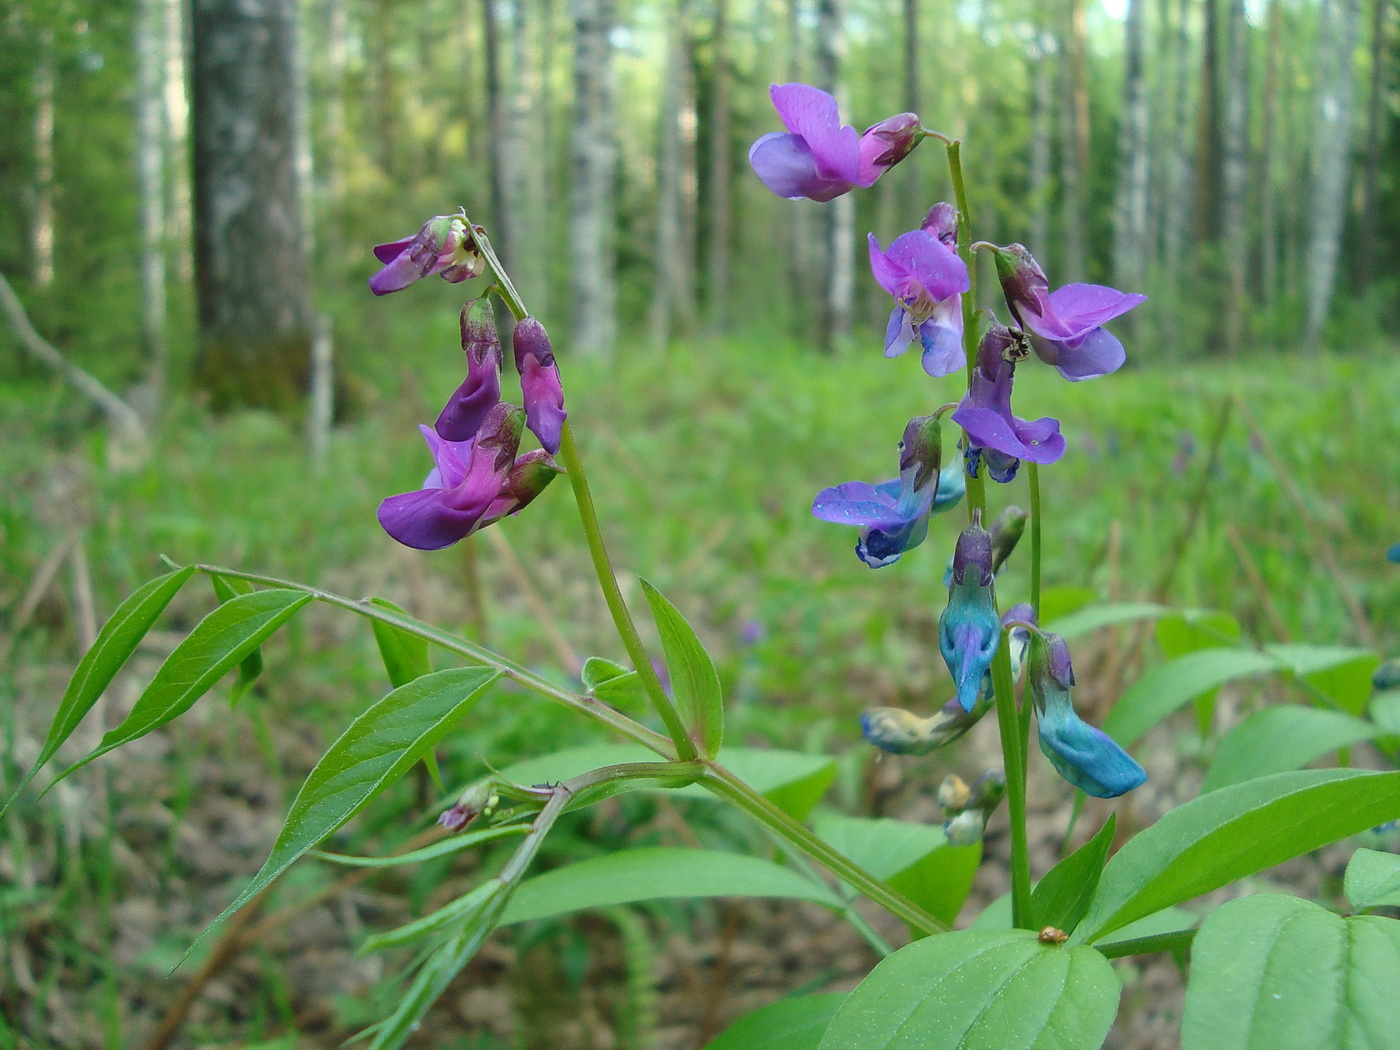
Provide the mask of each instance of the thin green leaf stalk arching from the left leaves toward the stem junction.
[{"label": "thin green leaf stalk arching from the left leaves toward the stem junction", "polygon": [[500,671],[505,678],[512,682],[519,683],[532,693],[539,693],[540,696],[553,700],[557,704],[563,704],[573,711],[588,715],[594,721],[602,722],[603,725],[616,729],[623,736],[627,736],[644,748],[650,748],[665,759],[675,757],[675,750],[665,736],[654,729],[648,729],[645,725],[633,721],[620,711],[615,711],[605,703],[595,700],[591,696],[578,696],[567,689],[556,686],[549,679],[540,678],[515,664],[505,657],[491,652],[489,648],[476,645],[465,638],[459,638],[455,634],[440,630],[426,623],[420,623],[410,616],[400,616],[399,613],[391,612],[378,605],[371,605],[368,601],[356,601],[354,598],[344,598],[343,595],[332,594],[329,591],[322,591],[318,587],[308,587],[307,584],[298,584],[294,580],[280,580],[272,575],[262,575],[260,573],[244,573],[238,568],[224,568],[223,566],[196,566],[200,573],[209,575],[225,575],[235,580],[246,580],[251,584],[262,584],[265,587],[284,587],[291,591],[300,591],[301,594],[309,594],[318,602],[325,602],[326,605],[333,605],[340,609],[349,609],[353,613],[358,613],[370,620],[379,620],[381,623],[388,623],[406,634],[413,634],[414,637],[430,641],[448,652],[455,652],[458,657],[470,661],[472,664],[480,664],[482,666],[494,668]]}]

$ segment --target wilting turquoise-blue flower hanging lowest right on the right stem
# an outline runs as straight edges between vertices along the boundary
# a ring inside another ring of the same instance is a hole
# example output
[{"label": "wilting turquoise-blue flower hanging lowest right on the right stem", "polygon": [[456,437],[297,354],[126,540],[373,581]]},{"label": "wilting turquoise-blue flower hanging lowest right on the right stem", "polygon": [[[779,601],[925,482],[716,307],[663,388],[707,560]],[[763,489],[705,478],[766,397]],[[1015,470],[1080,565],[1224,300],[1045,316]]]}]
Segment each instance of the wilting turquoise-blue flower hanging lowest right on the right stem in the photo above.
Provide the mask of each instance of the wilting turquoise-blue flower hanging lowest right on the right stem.
[{"label": "wilting turquoise-blue flower hanging lowest right on the right stem", "polygon": [[1070,647],[1058,634],[1030,644],[1028,689],[1040,724],[1040,750],[1061,777],[1095,798],[1117,798],[1147,780],[1133,756],[1074,713]]}]

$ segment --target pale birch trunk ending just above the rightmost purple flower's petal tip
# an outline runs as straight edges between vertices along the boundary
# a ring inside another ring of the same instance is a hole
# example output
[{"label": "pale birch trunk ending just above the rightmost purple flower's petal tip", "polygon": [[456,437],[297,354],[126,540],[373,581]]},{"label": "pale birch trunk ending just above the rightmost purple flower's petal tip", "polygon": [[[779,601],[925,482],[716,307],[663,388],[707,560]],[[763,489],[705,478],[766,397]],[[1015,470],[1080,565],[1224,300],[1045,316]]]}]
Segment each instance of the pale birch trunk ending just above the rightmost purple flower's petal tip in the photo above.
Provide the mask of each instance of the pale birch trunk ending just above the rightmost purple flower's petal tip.
[{"label": "pale birch trunk ending just above the rightmost purple flower's petal tip", "polygon": [[1144,0],[1128,0],[1123,24],[1123,120],[1113,214],[1113,277],[1120,288],[1141,288],[1147,269],[1148,104],[1142,76],[1142,4]]}]

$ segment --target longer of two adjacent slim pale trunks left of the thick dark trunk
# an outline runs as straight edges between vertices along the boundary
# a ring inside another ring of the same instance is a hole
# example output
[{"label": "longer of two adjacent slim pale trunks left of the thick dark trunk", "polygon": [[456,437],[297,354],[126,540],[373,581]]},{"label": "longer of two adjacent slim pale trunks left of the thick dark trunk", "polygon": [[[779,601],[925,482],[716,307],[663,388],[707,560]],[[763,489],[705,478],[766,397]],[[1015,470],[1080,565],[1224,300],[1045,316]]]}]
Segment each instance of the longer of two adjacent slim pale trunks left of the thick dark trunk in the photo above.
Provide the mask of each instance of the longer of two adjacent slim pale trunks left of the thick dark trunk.
[{"label": "longer of two adjacent slim pale trunks left of the thick dark trunk", "polygon": [[140,225],[141,342],[151,412],[165,396],[169,343],[165,339],[165,129],[161,78],[161,0],[136,7],[136,197]]}]

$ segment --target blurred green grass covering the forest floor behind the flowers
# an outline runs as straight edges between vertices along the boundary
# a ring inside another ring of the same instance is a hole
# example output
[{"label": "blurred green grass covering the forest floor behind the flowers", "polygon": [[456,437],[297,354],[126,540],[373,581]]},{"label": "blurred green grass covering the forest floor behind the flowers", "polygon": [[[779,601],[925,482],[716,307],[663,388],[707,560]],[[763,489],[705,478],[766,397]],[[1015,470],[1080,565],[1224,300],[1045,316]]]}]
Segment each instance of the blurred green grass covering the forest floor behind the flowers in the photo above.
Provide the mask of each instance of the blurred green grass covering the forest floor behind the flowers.
[{"label": "blurred green grass covering the forest floor behind the flowers", "polygon": [[[382,336],[405,350],[372,363],[364,410],[336,430],[322,473],[309,469],[298,426],[263,414],[209,419],[193,409],[167,421],[144,468],[109,470],[99,434],[67,392],[49,384],[0,391],[0,428],[10,435],[0,448],[10,482],[0,507],[0,612],[14,634],[11,659],[0,669],[0,692],[10,701],[0,727],[6,750],[42,735],[77,661],[67,567],[56,577],[56,598],[24,623],[14,620],[39,566],[74,528],[99,616],[161,571],[158,554],[218,561],[389,598],[566,680],[568,669],[542,637],[526,582],[490,536],[470,540],[487,610],[482,630],[469,627],[463,547],[409,552],[375,524],[378,501],[416,487],[426,473],[414,424],[431,420],[461,378],[455,326],[445,322],[451,318]],[[644,619],[636,577],[647,577],[711,645],[731,697],[731,739],[853,752],[861,708],[941,703],[948,683],[935,629],[960,510],[935,519],[921,549],[871,571],[854,557],[854,529],[813,519],[809,504],[823,486],[892,476],[904,421],[953,399],[952,379],[931,381],[913,356],[886,361],[876,347],[823,357],[781,340],[725,340],[666,354],[634,349],[605,363],[573,360],[567,340],[557,344],[624,592]],[[1282,630],[1301,641],[1355,643],[1345,588],[1366,610],[1380,647],[1396,650],[1400,568],[1383,559],[1400,539],[1394,354],[1142,365],[1074,385],[1037,365],[1021,372],[1021,414],[1061,417],[1070,442],[1064,461],[1042,475],[1047,584],[1088,587],[1105,598],[1148,594],[1205,477],[1169,601],[1235,612],[1261,638]],[[1233,410],[1207,473],[1210,433],[1226,398],[1247,409],[1263,442]],[[1285,496],[1264,444],[1301,494],[1312,528]],[[948,452],[955,454],[951,444]],[[1025,505],[1023,479],[994,487],[991,500],[994,508]],[[528,588],[547,605],[566,644],[578,657],[622,659],[591,584],[567,484],[494,528],[525,564]],[[1240,571],[1232,535],[1263,589]],[[1340,577],[1326,571],[1319,545],[1331,552]],[[1022,550],[998,582],[1002,602],[1023,596],[1026,585]],[[207,584],[196,581],[164,629],[188,629],[211,602]],[[650,624],[643,633],[652,637]],[[27,802],[7,818],[13,868],[38,874],[41,886],[46,875],[53,881],[36,927],[32,918],[13,918],[32,916],[20,897],[0,900],[7,924],[0,934],[52,938],[59,963],[36,974],[41,991],[70,981],[94,988],[84,1007],[95,1025],[92,1046],[122,1046],[129,1037],[119,1004],[133,994],[132,972],[113,962],[111,903],[148,893],[169,909],[169,928],[134,970],[146,979],[164,973],[189,934],[231,896],[237,878],[225,865],[206,879],[202,861],[181,846],[183,816],[209,792],[263,792],[283,809],[319,749],[388,687],[367,626],[329,609],[300,617],[267,647],[266,662],[265,693],[239,711],[230,714],[218,696],[209,697],[196,718],[161,734],[168,746],[116,752],[74,777],[80,797],[101,799],[98,823],[116,829],[108,839],[73,834],[48,801]],[[148,673],[153,662],[146,665]],[[501,766],[594,736],[560,710],[501,690],[449,743],[444,770],[461,783],[484,762]],[[280,778],[242,787],[210,781],[210,769],[225,767],[256,780],[267,762],[286,766]],[[6,776],[14,769],[7,760]],[[146,829],[150,841],[133,871],[113,862],[112,840],[133,848],[127,823],[144,826],[133,818],[143,804],[164,806],[171,823]],[[398,841],[421,815],[405,785],[351,826],[340,847]],[[251,871],[260,857],[242,860]],[[181,896],[190,885],[202,892]],[[412,883],[407,892],[427,899],[433,889]],[[266,965],[280,966],[272,956]],[[248,1015],[260,1018],[249,1022],[258,1032],[272,1033],[290,1011],[290,993],[272,979],[265,987]],[[202,1036],[221,1037],[217,1022],[200,1025],[209,1025]]]}]

